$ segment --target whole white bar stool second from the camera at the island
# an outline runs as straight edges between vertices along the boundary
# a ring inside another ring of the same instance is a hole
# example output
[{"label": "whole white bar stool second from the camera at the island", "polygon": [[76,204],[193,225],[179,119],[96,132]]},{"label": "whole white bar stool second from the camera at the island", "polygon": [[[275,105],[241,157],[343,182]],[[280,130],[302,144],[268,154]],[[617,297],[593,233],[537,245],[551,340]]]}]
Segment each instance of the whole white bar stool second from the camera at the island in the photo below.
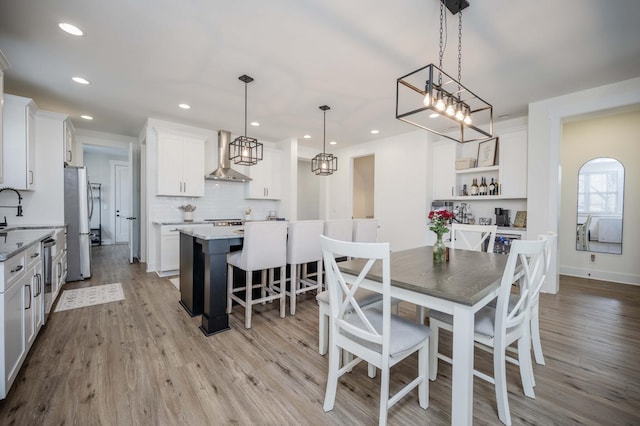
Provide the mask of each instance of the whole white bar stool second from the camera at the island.
[{"label": "whole white bar stool second from the camera at the island", "polygon": [[[322,291],[322,249],[320,235],[324,231],[322,220],[291,221],[287,237],[287,264],[289,274],[289,312],[296,313],[296,299],[308,291]],[[315,272],[308,265],[315,263]]]}]

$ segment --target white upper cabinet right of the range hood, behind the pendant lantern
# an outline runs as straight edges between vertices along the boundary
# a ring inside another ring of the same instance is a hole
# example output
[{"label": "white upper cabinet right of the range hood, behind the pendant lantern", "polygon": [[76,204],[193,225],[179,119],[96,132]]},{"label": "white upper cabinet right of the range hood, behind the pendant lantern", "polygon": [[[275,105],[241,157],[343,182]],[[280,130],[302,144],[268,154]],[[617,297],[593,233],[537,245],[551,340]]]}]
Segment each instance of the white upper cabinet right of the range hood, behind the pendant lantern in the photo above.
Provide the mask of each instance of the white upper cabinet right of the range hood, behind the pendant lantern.
[{"label": "white upper cabinet right of the range hood, behind the pendant lantern", "polygon": [[251,178],[247,185],[247,199],[279,200],[282,196],[282,152],[264,149],[262,161],[247,167]]}]

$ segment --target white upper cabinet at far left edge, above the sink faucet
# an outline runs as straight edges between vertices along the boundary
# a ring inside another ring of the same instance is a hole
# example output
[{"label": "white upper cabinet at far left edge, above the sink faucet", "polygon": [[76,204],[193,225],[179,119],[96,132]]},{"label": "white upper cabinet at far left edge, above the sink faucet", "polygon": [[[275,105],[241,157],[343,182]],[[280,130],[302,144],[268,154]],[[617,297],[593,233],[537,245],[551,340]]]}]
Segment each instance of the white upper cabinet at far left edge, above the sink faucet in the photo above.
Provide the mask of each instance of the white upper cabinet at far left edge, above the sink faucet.
[{"label": "white upper cabinet at far left edge, above the sink faucet", "polygon": [[3,185],[35,190],[36,134],[33,100],[4,95],[3,109]]}]

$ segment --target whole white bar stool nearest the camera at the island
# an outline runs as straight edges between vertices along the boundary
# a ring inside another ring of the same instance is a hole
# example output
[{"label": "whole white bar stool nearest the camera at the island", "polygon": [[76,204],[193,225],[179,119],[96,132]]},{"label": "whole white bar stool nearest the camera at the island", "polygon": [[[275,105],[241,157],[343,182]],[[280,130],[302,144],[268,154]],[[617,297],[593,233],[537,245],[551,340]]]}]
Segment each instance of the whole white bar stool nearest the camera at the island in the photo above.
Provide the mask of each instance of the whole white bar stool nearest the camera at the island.
[{"label": "whole white bar stool nearest the camera at the island", "polygon": [[[285,314],[285,270],[287,266],[287,224],[280,221],[247,222],[244,224],[242,250],[227,255],[227,313],[231,313],[232,301],[244,306],[246,328],[251,328],[253,305],[280,300],[280,317]],[[233,286],[233,268],[245,271],[245,285]],[[274,269],[280,268],[280,279],[275,280]],[[259,283],[253,283],[253,271],[261,271]],[[268,280],[267,280],[268,271]],[[253,289],[260,288],[258,299]],[[244,292],[242,299],[235,293]]]}]

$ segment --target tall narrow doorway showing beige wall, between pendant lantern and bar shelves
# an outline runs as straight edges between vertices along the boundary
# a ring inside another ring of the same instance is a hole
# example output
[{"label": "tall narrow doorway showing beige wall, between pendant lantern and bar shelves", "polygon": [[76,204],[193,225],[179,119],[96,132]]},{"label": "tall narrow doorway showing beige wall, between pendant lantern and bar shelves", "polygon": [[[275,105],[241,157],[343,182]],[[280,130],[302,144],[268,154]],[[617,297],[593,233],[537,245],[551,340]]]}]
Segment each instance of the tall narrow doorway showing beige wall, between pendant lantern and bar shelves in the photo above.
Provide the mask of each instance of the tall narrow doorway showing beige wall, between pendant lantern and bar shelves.
[{"label": "tall narrow doorway showing beige wall, between pendant lantern and bar shelves", "polygon": [[375,155],[353,159],[353,218],[372,219],[375,210]]}]

